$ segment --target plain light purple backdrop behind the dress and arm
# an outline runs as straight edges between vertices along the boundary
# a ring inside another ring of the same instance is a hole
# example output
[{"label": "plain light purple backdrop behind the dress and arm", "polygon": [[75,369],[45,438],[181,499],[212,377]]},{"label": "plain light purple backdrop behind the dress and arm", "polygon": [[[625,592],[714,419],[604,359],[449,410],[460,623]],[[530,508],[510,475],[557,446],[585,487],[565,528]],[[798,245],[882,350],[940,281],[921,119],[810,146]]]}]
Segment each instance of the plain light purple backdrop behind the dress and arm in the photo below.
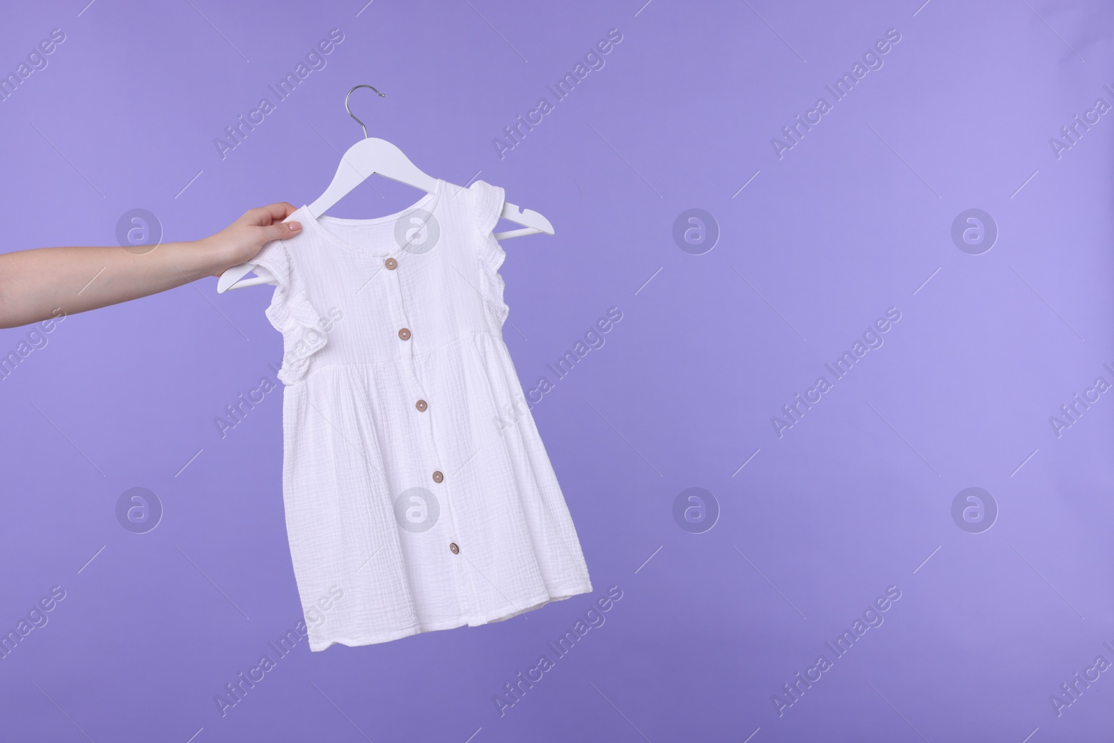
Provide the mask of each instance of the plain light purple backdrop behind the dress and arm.
[{"label": "plain light purple backdrop behind the dress and arm", "polygon": [[[1114,117],[1061,159],[1048,140],[1114,104],[1114,11],[921,1],[6,8],[0,71],[52,28],[67,40],[0,102],[4,251],[111,245],[136,207],[176,241],[311,202],[362,136],[344,94],[370,84],[387,97],[352,105],[373,136],[555,225],[505,244],[524,388],[608,307],[624,316],[532,411],[595,593],[303,643],[224,717],[214,695],[302,610],[281,392],[223,440],[213,422],[273,379],[272,290],[205,278],[66,319],[0,381],[0,628],[67,593],[0,661],[0,737],[1108,740],[1114,672],[1062,716],[1049,695],[1114,662],[1114,400],[1061,438],[1048,419],[1114,381]],[[332,28],[325,69],[222,160],[213,139]],[[610,28],[606,66],[500,159],[491,139]],[[771,137],[889,28],[885,66],[779,160]],[[419,195],[374,178],[330,213]],[[692,207],[722,229],[698,256],[672,237]],[[950,237],[971,207],[1000,231],[983,255]],[[885,345],[779,439],[770,418],[890,306]],[[0,353],[28,332],[0,331]],[[164,504],[149,534],[116,520],[131,487]],[[705,534],[673,519],[688,487],[720,504]],[[998,504],[988,531],[952,521],[967,487]],[[606,623],[500,716],[494,695],[613,585]],[[779,716],[772,695],[890,585],[885,624]]]}]

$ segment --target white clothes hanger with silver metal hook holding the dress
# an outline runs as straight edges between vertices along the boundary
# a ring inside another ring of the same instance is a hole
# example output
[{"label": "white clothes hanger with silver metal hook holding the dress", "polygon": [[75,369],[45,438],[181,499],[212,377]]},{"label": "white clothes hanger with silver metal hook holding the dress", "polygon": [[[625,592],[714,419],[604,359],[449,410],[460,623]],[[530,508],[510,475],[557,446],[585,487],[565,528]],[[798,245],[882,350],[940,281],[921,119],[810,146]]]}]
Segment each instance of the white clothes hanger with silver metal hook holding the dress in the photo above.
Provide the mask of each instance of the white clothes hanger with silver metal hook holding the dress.
[{"label": "white clothes hanger with silver metal hook holding the dress", "polygon": [[[352,90],[356,88],[371,88],[375,90],[370,85],[358,85]],[[329,188],[306,207],[314,218],[328,212],[336,202],[341,201],[374,173],[392,180],[404,183],[408,186],[421,188],[427,193],[437,188],[437,179],[422,173],[417,165],[402,154],[401,149],[385,139],[368,136],[368,127],[352,114],[352,110],[348,106],[348,99],[352,95],[352,90],[349,90],[348,96],[344,96],[344,109],[363,128],[364,138],[352,145],[344,153],[341,164],[336,167],[336,174],[333,176],[332,183],[329,184]],[[375,92],[380,98],[385,97],[379,90],[375,90]],[[459,186],[457,187],[459,188]],[[532,209],[521,209],[514,204],[504,202],[502,214],[500,216],[508,222],[522,225],[524,228],[495,233],[496,239],[518,237],[520,235],[536,235],[538,233],[554,234],[554,227],[549,224],[549,219],[546,219]],[[244,276],[252,272],[256,273],[256,277],[244,278]],[[229,289],[243,289],[244,286],[274,283],[275,278],[264,268],[247,262],[233,266],[222,273],[216,284],[216,291],[217,294],[223,294]]]}]

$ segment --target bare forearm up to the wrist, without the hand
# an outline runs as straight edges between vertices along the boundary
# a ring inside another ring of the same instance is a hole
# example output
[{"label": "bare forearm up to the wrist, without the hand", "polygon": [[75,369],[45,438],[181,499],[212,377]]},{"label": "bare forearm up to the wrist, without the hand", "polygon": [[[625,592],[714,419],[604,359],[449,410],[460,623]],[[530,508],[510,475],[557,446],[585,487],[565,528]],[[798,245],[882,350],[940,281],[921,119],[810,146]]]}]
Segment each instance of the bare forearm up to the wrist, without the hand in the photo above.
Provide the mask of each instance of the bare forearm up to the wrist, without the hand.
[{"label": "bare forearm up to the wrist, without the hand", "polygon": [[85,312],[165,292],[218,273],[206,241],[165,243],[148,253],[121,247],[42,247],[0,254],[0,327]]}]

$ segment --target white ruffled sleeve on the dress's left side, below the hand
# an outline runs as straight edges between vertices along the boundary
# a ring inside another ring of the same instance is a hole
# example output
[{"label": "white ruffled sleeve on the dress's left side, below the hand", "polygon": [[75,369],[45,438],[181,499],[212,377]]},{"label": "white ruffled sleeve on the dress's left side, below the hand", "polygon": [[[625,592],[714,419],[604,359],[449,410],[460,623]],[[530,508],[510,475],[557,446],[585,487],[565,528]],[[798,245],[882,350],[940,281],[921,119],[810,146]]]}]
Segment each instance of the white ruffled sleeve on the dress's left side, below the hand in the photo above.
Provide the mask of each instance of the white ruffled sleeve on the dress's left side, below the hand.
[{"label": "white ruffled sleeve on the dress's left side, below the hand", "polygon": [[251,261],[276,281],[265,314],[283,336],[282,368],[277,377],[284,384],[294,384],[305,377],[313,355],[329,343],[321,315],[310,303],[291,260],[290,248],[294,246],[289,243],[296,239],[272,241]]}]

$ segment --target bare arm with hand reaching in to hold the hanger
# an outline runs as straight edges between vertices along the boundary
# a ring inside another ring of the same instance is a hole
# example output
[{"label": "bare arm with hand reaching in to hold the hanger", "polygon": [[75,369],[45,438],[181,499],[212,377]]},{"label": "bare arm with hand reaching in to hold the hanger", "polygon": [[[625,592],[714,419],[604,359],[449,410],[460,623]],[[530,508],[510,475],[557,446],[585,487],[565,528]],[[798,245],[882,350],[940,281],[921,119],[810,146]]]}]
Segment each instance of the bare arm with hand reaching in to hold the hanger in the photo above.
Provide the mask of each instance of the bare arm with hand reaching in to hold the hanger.
[{"label": "bare arm with hand reaching in to hold the hanger", "polygon": [[16,327],[66,314],[127,302],[219,276],[250,261],[265,243],[302,228],[283,223],[294,207],[285,202],[251,209],[215,235],[188,243],[163,243],[137,255],[123,247],[40,247],[0,254],[0,327]]}]

